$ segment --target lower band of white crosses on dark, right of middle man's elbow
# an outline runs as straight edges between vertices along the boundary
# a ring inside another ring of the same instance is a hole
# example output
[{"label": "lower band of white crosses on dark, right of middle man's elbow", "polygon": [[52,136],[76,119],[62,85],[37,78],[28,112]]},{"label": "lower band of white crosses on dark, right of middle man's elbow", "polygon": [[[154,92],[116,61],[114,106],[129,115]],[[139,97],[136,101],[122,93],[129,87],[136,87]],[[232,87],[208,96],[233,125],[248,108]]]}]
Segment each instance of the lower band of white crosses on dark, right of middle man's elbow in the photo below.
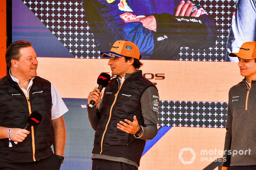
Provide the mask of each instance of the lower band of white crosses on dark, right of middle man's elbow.
[{"label": "lower band of white crosses on dark, right of middle man's elbow", "polygon": [[176,107],[176,101],[161,101],[158,114],[160,126],[226,127],[228,102],[179,101],[180,106]]}]

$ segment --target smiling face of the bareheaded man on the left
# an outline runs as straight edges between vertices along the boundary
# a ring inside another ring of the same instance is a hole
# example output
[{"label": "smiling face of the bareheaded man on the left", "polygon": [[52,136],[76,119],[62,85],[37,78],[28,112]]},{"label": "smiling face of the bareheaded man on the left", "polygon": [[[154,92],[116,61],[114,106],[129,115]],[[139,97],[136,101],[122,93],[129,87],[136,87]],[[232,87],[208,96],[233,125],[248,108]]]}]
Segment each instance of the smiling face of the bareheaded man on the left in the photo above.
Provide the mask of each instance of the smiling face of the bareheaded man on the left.
[{"label": "smiling face of the bareheaded man on the left", "polygon": [[29,80],[36,77],[37,59],[36,52],[32,47],[20,48],[19,60],[12,61],[18,79]]}]

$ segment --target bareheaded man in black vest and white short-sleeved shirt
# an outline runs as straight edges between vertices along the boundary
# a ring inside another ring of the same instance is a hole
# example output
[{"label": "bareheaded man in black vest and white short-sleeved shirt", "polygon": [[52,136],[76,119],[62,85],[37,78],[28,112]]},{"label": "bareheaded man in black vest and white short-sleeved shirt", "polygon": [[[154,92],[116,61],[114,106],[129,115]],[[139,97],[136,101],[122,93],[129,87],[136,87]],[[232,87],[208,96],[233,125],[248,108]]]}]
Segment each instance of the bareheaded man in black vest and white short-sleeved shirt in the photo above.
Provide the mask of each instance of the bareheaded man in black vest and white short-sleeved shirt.
[{"label": "bareheaded man in black vest and white short-sleeved shirt", "polygon": [[[30,42],[13,42],[5,59],[10,70],[0,79],[0,169],[59,170],[68,108],[55,87],[36,76],[38,62]],[[42,115],[41,122],[23,129],[35,111]]]}]

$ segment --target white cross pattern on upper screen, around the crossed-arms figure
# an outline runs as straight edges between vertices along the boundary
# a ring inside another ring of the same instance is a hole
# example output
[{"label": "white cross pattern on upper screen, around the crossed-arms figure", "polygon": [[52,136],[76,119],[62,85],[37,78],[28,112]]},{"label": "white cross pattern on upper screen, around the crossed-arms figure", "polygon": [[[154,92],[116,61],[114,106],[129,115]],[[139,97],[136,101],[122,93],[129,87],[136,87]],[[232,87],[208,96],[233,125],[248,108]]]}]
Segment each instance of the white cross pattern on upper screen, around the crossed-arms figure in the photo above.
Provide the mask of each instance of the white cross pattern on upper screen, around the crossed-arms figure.
[{"label": "white cross pattern on upper screen, around the crossed-arms figure", "polygon": [[[23,0],[31,11],[34,12],[42,23],[52,32],[57,39],[68,48],[76,58],[101,58],[97,44],[94,42],[92,28],[88,25],[82,0]],[[215,36],[215,45],[211,47],[200,47],[199,49],[180,47],[176,60],[180,61],[204,61],[204,62],[223,62],[225,61],[226,42],[229,28],[231,26],[232,15],[235,8],[235,1],[223,0],[218,3],[212,0],[195,0],[198,4],[213,18],[217,26],[217,35]],[[225,11],[225,12],[224,12]],[[69,34],[63,34],[64,31],[70,31]],[[60,32],[61,34],[58,34]],[[71,39],[70,39],[71,37]],[[80,46],[86,40],[90,46]],[[195,36],[195,39],[197,37]],[[63,40],[66,41],[63,41]],[[68,41],[68,42],[67,42]],[[67,44],[73,44],[68,46]],[[74,46],[77,43],[78,46]],[[212,49],[215,52],[212,52]],[[83,55],[85,55],[83,57]],[[219,54],[219,55],[218,55]]]}]

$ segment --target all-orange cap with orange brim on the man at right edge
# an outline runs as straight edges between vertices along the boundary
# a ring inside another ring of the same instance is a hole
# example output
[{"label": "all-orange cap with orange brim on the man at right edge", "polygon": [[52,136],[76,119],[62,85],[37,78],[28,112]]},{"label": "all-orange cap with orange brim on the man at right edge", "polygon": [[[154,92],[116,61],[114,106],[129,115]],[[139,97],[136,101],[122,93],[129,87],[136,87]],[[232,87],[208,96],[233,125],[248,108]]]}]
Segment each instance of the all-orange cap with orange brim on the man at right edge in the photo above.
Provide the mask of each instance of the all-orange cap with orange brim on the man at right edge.
[{"label": "all-orange cap with orange brim on the man at right edge", "polygon": [[245,42],[238,53],[229,53],[230,57],[239,57],[244,60],[256,58],[256,42]]}]

